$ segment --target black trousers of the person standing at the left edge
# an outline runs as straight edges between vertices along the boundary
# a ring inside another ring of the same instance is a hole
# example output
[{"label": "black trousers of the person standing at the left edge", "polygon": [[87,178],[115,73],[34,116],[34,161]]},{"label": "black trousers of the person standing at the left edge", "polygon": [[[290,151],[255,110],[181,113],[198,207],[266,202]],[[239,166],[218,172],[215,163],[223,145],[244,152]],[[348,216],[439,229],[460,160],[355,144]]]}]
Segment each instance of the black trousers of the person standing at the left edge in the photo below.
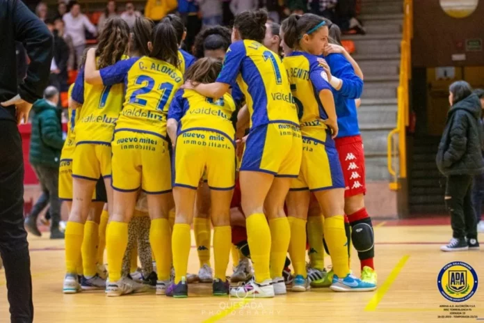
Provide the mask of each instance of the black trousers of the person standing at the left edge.
[{"label": "black trousers of the person standing at the left edge", "polygon": [[10,320],[33,322],[29,243],[24,229],[22,139],[13,120],[0,120],[0,255],[5,267]]}]

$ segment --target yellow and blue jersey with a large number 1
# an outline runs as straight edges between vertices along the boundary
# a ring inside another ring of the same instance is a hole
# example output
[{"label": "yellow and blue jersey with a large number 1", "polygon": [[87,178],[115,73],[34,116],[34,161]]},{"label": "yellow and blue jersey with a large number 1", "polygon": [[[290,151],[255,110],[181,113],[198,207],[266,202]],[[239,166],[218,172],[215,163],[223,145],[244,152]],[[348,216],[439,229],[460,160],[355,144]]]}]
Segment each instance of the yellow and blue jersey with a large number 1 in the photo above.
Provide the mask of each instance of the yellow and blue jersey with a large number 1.
[{"label": "yellow and blue jersey with a large number 1", "polygon": [[255,40],[227,49],[218,82],[239,84],[250,112],[250,127],[268,123],[299,125],[287,73],[280,57]]}]

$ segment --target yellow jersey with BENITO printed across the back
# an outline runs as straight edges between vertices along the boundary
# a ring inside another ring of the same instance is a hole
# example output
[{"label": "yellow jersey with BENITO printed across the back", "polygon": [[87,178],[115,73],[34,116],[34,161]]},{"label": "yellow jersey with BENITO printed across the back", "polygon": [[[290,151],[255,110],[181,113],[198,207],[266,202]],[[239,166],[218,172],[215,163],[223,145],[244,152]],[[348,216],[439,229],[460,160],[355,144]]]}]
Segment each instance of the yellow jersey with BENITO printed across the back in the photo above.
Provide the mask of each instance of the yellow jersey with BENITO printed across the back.
[{"label": "yellow jersey with BENITO printed across the back", "polygon": [[325,142],[331,139],[328,126],[321,122],[328,118],[319,100],[321,90],[331,90],[328,75],[318,57],[305,52],[292,52],[284,57],[294,102],[298,107],[302,132],[311,131],[314,139]]}]

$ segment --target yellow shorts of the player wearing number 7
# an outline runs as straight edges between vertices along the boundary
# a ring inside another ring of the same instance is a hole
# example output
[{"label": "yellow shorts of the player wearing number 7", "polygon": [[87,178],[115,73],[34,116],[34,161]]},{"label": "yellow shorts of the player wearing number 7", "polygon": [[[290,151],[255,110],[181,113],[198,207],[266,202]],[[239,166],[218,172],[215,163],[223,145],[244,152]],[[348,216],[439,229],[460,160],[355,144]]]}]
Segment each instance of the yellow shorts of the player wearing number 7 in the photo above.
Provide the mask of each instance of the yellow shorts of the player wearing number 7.
[{"label": "yellow shorts of the player wearing number 7", "polygon": [[111,177],[111,144],[81,143],[74,150],[72,177],[98,180]]}]

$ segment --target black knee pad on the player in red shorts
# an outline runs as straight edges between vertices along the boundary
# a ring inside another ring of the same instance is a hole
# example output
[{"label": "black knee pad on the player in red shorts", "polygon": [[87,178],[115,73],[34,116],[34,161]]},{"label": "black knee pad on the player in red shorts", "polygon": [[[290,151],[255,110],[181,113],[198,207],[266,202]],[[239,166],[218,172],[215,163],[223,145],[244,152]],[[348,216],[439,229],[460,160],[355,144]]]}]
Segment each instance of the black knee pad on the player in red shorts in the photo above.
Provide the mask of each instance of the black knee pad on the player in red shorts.
[{"label": "black knee pad on the player in red shorts", "polygon": [[351,223],[351,241],[358,251],[360,260],[373,258],[375,255],[375,237],[371,219],[361,219]]}]

